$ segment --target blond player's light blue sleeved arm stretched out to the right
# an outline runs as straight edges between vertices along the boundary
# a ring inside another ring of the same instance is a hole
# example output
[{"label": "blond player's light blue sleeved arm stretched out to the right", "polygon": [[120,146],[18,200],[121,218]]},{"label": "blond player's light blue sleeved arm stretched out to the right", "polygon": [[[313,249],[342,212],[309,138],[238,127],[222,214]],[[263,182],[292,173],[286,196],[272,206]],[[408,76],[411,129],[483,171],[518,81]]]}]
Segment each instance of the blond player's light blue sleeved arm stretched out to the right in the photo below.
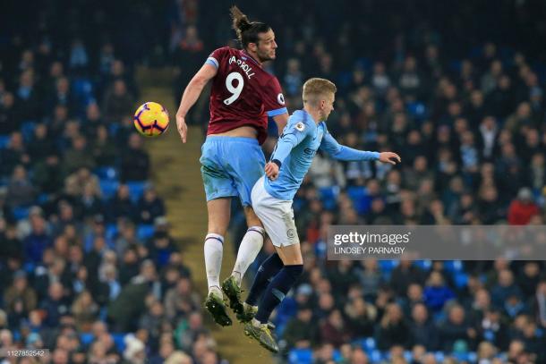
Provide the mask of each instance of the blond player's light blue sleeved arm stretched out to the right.
[{"label": "blond player's light blue sleeved arm stretched out to the right", "polygon": [[382,163],[390,163],[391,165],[396,165],[401,162],[400,157],[393,152],[369,152],[342,146],[329,132],[324,134],[322,142],[320,143],[320,149],[326,151],[330,156],[338,160],[379,160]]}]

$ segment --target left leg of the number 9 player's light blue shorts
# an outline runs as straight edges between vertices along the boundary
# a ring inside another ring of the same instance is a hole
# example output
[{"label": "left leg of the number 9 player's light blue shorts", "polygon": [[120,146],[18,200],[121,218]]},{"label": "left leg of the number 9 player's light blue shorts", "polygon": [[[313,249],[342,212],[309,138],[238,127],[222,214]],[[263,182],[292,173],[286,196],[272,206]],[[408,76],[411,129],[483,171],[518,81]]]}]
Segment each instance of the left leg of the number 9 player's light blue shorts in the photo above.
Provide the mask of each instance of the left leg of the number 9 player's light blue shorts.
[{"label": "left leg of the number 9 player's light blue shorts", "polygon": [[238,194],[233,177],[222,164],[222,153],[222,146],[216,140],[206,140],[201,147],[200,171],[207,201]]}]

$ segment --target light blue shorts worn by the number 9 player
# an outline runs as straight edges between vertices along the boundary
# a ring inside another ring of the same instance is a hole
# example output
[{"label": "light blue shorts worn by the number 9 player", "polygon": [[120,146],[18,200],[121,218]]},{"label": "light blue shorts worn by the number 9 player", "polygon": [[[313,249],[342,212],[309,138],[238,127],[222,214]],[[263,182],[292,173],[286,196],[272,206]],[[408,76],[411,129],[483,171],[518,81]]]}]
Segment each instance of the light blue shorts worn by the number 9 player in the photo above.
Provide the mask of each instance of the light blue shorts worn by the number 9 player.
[{"label": "light blue shorts worn by the number 9 player", "polygon": [[239,196],[243,206],[251,206],[252,187],[264,174],[265,163],[258,140],[207,137],[200,157],[207,201]]}]

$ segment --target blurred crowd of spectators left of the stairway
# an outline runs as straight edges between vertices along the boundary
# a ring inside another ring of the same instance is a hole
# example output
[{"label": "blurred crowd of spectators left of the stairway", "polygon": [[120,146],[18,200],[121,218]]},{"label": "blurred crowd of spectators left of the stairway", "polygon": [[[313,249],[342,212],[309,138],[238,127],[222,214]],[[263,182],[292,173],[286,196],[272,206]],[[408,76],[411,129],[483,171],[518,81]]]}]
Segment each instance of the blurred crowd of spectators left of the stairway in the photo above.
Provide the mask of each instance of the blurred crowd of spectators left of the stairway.
[{"label": "blurred crowd of spectators left of the stairway", "polygon": [[0,361],[36,348],[55,364],[219,363],[133,127],[133,11],[97,4],[4,9]]}]

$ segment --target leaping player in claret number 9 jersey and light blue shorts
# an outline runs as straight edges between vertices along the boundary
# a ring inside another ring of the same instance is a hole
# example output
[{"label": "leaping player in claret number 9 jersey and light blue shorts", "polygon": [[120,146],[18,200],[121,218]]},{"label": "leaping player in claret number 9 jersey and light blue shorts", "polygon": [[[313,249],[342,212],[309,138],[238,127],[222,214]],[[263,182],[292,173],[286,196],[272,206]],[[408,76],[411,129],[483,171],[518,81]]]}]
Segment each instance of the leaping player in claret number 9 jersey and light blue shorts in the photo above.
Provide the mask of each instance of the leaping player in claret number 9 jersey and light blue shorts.
[{"label": "leaping player in claret number 9 jersey and light blue shorts", "polygon": [[[231,15],[243,49],[222,47],[212,52],[184,90],[176,113],[176,126],[185,142],[186,114],[212,80],[209,130],[200,157],[209,212],[204,244],[209,283],[205,307],[221,326],[232,324],[222,290],[235,313],[242,315],[241,279],[263,245],[265,233],[252,210],[251,191],[264,174],[265,157],[260,145],[267,137],[268,117],[277,123],[279,131],[288,120],[280,84],[262,68],[263,62],[275,59],[275,33],[263,22],[249,21],[236,6],[231,8]],[[220,288],[224,236],[234,197],[241,199],[248,231],[241,242],[233,273]]]}]

